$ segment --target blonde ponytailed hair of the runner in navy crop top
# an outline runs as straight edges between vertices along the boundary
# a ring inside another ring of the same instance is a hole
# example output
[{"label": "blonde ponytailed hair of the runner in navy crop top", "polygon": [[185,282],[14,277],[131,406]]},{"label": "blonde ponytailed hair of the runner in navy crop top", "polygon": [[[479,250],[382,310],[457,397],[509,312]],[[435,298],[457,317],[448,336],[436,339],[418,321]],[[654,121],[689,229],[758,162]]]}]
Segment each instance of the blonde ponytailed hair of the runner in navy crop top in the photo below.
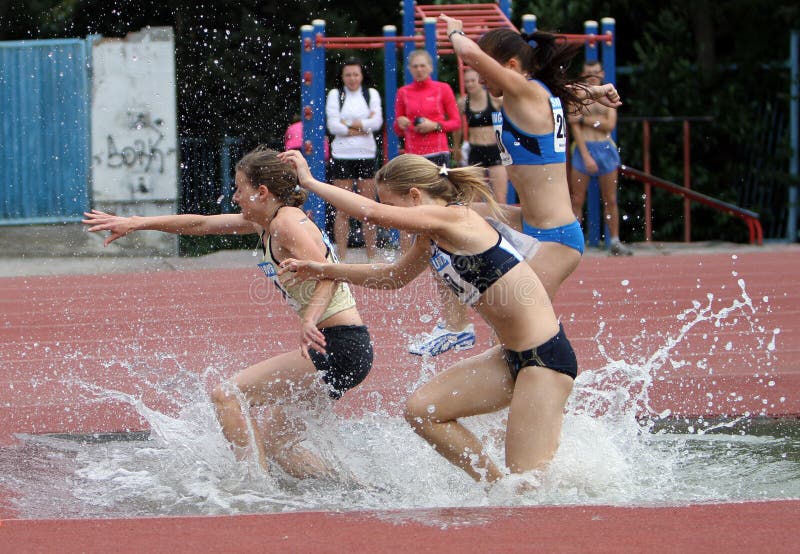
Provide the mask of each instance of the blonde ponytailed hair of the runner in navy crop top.
[{"label": "blonde ponytailed hair of the runner in navy crop top", "polygon": [[443,168],[417,154],[402,154],[378,170],[375,183],[401,195],[408,194],[412,188],[424,190],[432,198],[441,198],[448,204],[484,200],[492,214],[502,218],[482,167]]}]

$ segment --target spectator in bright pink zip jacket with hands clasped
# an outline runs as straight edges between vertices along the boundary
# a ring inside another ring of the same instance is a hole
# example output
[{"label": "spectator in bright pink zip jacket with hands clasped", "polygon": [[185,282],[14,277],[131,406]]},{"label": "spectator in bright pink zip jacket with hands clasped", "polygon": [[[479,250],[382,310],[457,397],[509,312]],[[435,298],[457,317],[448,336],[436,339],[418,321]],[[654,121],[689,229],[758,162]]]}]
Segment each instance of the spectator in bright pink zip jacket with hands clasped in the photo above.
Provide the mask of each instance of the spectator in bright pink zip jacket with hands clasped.
[{"label": "spectator in bright pink zip jacket with hands clasped", "polygon": [[397,91],[394,131],[405,140],[407,154],[419,154],[438,166],[450,165],[447,133],[461,128],[453,89],[431,79],[433,60],[426,50],[408,56],[414,82]]}]

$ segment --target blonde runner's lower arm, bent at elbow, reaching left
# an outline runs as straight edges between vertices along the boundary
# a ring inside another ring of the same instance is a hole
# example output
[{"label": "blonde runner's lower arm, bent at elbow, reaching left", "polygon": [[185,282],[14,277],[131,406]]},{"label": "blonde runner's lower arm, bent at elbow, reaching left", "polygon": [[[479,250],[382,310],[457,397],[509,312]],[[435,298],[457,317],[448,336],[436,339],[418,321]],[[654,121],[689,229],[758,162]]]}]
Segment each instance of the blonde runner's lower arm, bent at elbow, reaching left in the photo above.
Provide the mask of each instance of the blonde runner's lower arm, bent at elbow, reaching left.
[{"label": "blonde runner's lower arm, bent at elbow, reaching left", "polygon": [[331,264],[288,259],[281,263],[278,273],[292,272],[299,281],[331,279],[370,289],[394,290],[422,273],[428,258],[428,241],[420,238],[394,264]]}]

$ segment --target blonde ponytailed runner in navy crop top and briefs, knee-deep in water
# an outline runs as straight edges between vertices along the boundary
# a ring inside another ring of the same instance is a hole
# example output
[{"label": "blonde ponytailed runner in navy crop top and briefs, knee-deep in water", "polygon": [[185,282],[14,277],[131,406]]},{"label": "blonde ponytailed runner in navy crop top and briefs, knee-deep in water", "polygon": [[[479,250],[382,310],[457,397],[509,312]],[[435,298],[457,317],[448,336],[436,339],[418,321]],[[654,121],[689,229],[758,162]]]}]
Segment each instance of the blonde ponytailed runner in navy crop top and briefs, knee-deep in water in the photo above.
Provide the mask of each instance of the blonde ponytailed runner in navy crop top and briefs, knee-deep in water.
[{"label": "blonde ponytailed runner in navy crop top and briefs, knee-deep in water", "polygon": [[375,176],[379,204],[315,180],[298,152],[280,156],[295,165],[302,187],[337,209],[416,235],[394,264],[289,259],[281,264],[282,274],[390,290],[430,265],[497,336],[499,344],[456,363],[411,395],[405,417],[414,431],[474,479],[494,482],[507,472],[459,419],[508,407],[506,465],[511,473],[545,469],[558,448],[577,361],[541,281],[512,245],[514,238],[470,208],[480,199],[497,209],[483,168],[449,169],[422,156],[398,156]]}]

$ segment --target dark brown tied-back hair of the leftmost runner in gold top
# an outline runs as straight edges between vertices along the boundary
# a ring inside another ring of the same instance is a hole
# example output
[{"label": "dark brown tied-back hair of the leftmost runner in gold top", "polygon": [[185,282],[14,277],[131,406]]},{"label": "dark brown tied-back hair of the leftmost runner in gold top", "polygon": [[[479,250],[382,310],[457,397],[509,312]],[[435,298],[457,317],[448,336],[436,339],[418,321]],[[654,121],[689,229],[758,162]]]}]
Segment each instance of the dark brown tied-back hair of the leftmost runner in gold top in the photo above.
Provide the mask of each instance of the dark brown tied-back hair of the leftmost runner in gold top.
[{"label": "dark brown tied-back hair of the leftmost runner in gold top", "polygon": [[264,145],[257,146],[236,163],[236,171],[244,173],[250,185],[267,187],[286,206],[302,206],[308,193],[298,188],[294,166],[278,159],[275,150]]}]

